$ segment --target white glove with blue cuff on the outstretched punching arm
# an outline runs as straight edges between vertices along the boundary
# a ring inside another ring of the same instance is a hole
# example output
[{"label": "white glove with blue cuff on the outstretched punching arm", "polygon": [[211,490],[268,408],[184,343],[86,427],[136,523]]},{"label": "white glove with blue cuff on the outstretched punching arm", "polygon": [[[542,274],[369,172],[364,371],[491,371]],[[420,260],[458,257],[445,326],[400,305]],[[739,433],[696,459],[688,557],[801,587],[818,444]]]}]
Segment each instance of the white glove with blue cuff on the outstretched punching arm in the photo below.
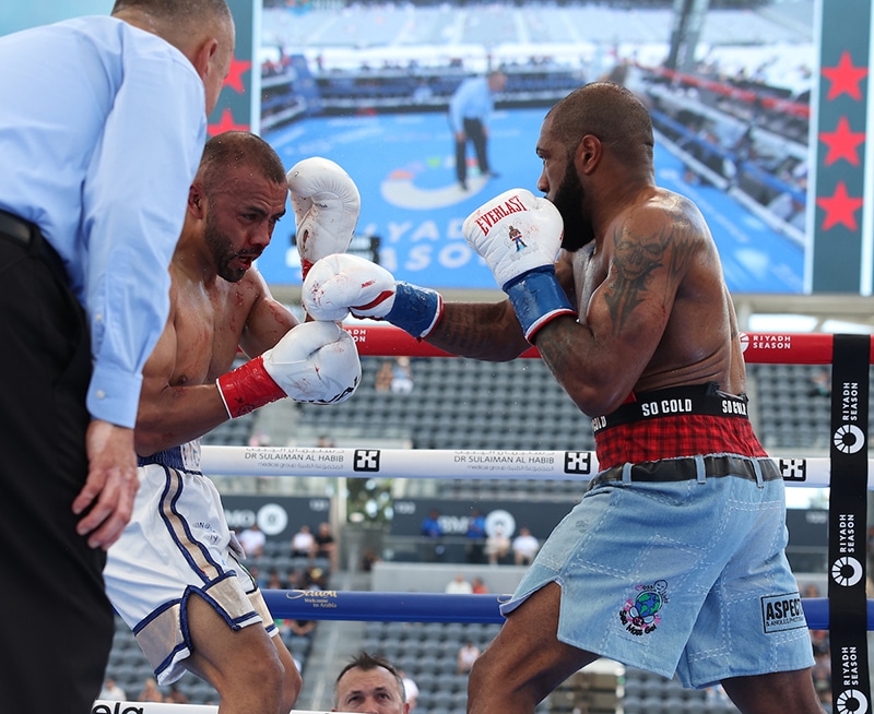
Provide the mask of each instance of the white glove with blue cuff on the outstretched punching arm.
[{"label": "white glove with blue cuff on the outstretched punching arm", "polygon": [[314,320],[388,320],[417,338],[426,337],[442,314],[436,290],[397,282],[381,265],[338,253],[312,265],[304,279],[304,309]]}]

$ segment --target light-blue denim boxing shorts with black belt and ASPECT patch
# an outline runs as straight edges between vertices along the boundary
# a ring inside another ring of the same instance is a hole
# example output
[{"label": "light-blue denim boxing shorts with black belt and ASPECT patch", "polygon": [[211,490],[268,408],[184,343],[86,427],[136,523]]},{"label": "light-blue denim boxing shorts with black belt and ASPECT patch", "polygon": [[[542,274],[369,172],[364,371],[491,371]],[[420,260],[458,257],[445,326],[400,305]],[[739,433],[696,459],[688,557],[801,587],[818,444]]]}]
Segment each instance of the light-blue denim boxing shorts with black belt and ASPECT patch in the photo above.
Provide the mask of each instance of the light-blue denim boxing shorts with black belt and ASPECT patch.
[{"label": "light-blue denim boxing shorts with black belt and ASPECT patch", "polygon": [[562,587],[558,640],[702,688],[813,665],[768,459],[625,464],[592,479],[523,576],[510,615]]}]

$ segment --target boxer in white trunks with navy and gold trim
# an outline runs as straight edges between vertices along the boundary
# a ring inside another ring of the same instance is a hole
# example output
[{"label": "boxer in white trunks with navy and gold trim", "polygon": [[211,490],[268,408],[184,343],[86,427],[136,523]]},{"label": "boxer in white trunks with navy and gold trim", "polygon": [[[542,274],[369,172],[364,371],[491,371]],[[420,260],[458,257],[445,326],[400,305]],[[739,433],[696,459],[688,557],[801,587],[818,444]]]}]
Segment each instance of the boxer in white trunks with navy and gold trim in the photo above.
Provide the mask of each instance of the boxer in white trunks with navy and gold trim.
[{"label": "boxer in white trunks with navy and gold trim", "polygon": [[[310,195],[335,180],[316,164]],[[140,490],[105,570],[109,598],[158,682],[188,669],[215,687],[228,714],[286,714],[302,682],[200,471],[199,439],[277,398],[338,404],[361,380],[349,333],[330,321],[298,324],[253,267],[287,191],[282,162],[257,135],[227,132],[206,143],[170,264],[170,316],[143,370]],[[332,249],[349,246],[356,217],[344,216]],[[250,359],[228,371],[238,347]]]}]

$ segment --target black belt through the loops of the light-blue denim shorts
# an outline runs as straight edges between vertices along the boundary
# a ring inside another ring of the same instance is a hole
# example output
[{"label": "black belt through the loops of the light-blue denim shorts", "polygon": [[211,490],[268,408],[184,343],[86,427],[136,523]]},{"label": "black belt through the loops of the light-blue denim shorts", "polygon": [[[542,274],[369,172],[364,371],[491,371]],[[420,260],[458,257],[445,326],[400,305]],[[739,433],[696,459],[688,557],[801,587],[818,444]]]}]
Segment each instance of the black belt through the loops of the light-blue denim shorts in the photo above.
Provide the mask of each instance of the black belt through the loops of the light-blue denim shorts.
[{"label": "black belt through the loops of the light-blue denim shorts", "polygon": [[[598,474],[589,484],[594,488],[599,484],[622,481],[624,466],[613,466]],[[630,464],[629,480],[637,483],[689,481],[699,477],[723,478],[734,476],[751,481],[773,481],[782,478],[777,464],[771,459],[751,456],[713,455],[687,456],[683,459],[665,459]],[[758,474],[757,474],[758,472]]]}]

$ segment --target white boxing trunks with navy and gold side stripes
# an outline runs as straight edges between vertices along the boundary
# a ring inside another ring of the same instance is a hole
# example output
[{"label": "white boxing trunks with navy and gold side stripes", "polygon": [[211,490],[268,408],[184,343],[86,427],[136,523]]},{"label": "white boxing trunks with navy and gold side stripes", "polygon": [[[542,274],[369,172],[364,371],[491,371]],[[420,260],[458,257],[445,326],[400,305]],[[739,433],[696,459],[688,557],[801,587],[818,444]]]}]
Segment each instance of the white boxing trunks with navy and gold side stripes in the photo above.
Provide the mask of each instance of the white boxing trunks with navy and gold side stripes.
[{"label": "white boxing trunks with navy and gold side stripes", "polygon": [[258,584],[239,563],[215,485],[200,473],[200,444],[140,460],[133,515],[107,554],[104,581],[116,611],[133,630],[160,685],[185,673],[191,634],[185,609],[200,596],[234,630],[279,630]]}]

